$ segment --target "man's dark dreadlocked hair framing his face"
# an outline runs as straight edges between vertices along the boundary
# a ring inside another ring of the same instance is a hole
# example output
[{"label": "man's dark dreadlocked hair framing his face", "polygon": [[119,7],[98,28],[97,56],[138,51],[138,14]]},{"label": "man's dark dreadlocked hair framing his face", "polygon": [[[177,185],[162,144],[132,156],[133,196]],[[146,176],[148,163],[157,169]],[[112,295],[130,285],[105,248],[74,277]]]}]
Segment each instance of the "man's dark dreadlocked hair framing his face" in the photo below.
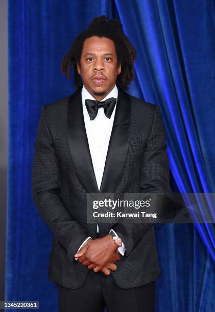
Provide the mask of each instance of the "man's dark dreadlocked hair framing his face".
[{"label": "man's dark dreadlocked hair framing his face", "polygon": [[123,32],[123,25],[117,19],[108,19],[102,15],[95,17],[89,24],[88,29],[81,32],[73,42],[68,53],[61,62],[61,71],[70,79],[69,67],[74,69],[74,84],[78,89],[83,85],[77,70],[80,65],[81,53],[85,39],[92,36],[106,37],[114,42],[117,66],[121,64],[121,73],[117,75],[116,84],[122,89],[128,90],[131,80],[134,78],[133,63],[136,58],[136,50]]}]

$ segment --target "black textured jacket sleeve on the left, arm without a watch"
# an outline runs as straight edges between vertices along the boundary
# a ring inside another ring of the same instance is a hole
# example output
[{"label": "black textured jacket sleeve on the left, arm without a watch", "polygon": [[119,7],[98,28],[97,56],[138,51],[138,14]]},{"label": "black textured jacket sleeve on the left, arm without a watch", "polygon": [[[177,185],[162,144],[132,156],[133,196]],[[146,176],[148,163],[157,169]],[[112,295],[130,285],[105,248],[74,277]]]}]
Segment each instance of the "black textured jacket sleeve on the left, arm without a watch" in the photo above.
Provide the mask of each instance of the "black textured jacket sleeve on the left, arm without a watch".
[{"label": "black textured jacket sleeve on the left, arm without a watch", "polygon": [[32,195],[41,218],[73,262],[78,247],[89,234],[71,218],[59,195],[60,187],[56,151],[43,106],[34,144]]}]

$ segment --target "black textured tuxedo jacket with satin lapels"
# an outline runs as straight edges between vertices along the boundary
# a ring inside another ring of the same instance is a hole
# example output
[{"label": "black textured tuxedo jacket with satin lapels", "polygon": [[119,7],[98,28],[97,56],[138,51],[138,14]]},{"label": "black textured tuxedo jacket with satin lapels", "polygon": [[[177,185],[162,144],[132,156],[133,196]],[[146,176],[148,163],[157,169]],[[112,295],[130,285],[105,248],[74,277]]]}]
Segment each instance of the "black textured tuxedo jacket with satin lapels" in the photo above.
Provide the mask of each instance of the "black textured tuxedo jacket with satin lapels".
[{"label": "black textured tuxedo jacket with satin lapels", "polygon": [[[75,260],[82,242],[96,238],[87,223],[87,193],[99,192],[82,110],[81,89],[42,107],[35,140],[32,194],[53,233],[49,278],[77,289],[89,269]],[[169,161],[159,106],[118,87],[101,193],[169,192]],[[100,237],[113,228],[126,253],[111,272],[121,288],[147,284],[160,276],[152,224],[102,224]]]}]

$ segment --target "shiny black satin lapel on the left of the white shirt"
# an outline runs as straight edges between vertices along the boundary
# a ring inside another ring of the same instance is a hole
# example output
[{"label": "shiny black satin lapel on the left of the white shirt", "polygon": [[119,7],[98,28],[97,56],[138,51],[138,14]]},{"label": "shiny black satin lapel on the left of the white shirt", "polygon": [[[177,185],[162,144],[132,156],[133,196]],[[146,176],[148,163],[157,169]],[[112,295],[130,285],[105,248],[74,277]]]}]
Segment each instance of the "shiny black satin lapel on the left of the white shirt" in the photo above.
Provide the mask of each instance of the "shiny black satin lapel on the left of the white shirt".
[{"label": "shiny black satin lapel on the left of the white shirt", "polygon": [[74,170],[88,193],[98,193],[97,180],[92,165],[89,144],[84,124],[82,97],[79,88],[68,99],[68,142]]}]

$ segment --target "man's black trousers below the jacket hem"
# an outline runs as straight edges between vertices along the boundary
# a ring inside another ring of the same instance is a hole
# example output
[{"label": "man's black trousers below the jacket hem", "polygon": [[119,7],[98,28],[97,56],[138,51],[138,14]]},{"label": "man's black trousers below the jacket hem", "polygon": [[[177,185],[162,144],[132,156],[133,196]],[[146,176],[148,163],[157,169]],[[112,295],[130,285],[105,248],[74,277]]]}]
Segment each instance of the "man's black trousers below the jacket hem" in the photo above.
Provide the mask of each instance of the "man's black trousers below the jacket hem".
[{"label": "man's black trousers below the jacket hem", "polygon": [[89,270],[79,289],[57,285],[59,312],[154,312],[155,281],[140,287],[123,289],[112,274]]}]

